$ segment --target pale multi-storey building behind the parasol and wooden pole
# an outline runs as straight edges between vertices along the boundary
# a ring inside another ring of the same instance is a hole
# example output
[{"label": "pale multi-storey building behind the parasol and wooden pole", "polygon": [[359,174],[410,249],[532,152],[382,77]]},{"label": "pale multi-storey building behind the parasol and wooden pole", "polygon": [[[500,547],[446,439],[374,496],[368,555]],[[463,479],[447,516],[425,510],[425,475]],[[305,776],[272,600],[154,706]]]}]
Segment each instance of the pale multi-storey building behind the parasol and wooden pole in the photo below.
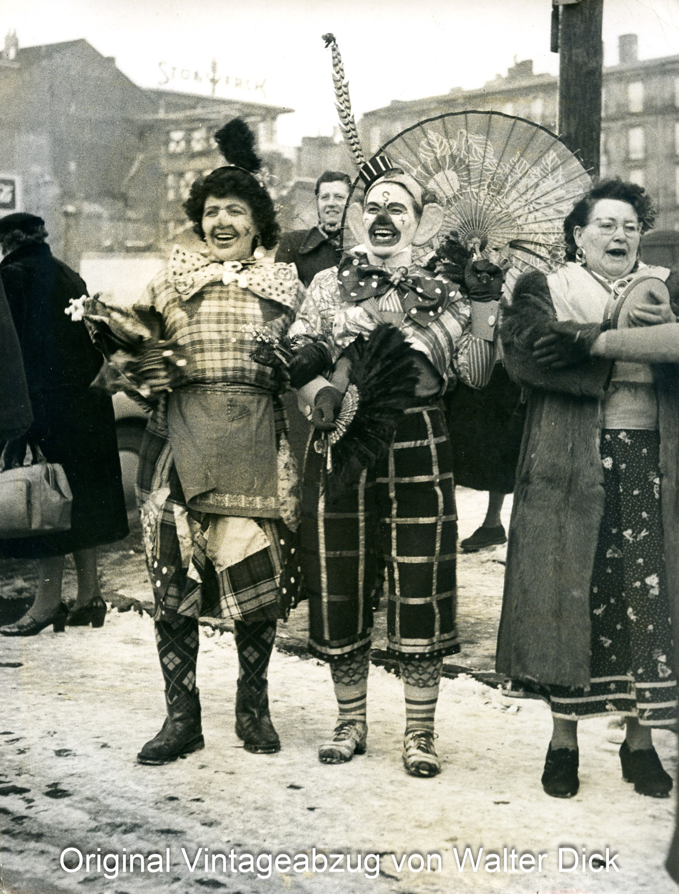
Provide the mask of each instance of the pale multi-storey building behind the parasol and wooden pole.
[{"label": "pale multi-storey building behind the parasol and wooden pole", "polygon": [[[618,55],[603,76],[601,176],[640,183],[658,208],[656,229],[679,231],[679,55],[640,61],[634,34],[619,38]],[[465,110],[519,115],[556,132],[558,82],[524,60],[480,89],[395,100],[364,114],[359,132],[372,154],[416,122]]]}]

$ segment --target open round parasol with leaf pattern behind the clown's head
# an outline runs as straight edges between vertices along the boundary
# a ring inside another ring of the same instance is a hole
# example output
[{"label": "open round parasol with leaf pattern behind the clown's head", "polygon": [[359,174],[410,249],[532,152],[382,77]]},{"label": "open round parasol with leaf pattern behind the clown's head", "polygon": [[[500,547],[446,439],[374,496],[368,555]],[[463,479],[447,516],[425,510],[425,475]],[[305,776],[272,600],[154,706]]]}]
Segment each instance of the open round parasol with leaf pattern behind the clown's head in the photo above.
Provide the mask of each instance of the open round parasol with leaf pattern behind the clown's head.
[{"label": "open round parasol with leaf pattern behind the clown's head", "polygon": [[[564,217],[590,189],[590,177],[546,128],[501,112],[451,112],[401,131],[379,152],[446,209],[438,236],[413,247],[420,264],[453,231],[482,257],[499,249],[512,262],[511,279],[563,262]],[[357,180],[350,201],[360,195]]]}]

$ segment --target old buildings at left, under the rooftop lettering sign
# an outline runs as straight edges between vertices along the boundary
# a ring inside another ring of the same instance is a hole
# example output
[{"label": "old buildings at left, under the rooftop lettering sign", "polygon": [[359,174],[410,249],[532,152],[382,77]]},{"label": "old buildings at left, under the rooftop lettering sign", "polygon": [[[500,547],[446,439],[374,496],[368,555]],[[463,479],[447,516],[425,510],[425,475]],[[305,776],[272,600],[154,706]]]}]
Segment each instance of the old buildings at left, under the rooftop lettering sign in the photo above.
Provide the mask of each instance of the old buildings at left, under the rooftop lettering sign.
[{"label": "old buildings at left, under the rooftop lettering sign", "polygon": [[0,55],[0,214],[41,215],[55,253],[165,253],[182,229],[191,181],[223,159],[210,134],[241,115],[259,136],[273,183],[292,179],[276,145],[291,109],[142,89],[87,40]]}]

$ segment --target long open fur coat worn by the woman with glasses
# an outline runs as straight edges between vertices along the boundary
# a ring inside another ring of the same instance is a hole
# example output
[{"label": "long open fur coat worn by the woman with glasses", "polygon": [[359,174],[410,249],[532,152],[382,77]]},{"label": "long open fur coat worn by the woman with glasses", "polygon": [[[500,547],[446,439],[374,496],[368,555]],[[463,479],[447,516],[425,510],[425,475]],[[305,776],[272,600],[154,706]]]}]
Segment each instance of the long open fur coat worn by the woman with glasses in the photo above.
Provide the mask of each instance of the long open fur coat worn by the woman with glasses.
[{"label": "long open fur coat worn by the woman with glasses", "polygon": [[[670,281],[667,281],[668,285]],[[525,274],[505,308],[505,367],[528,392],[507,547],[497,671],[543,684],[590,681],[590,578],[604,510],[599,404],[610,360],[547,370],[533,342],[556,319],[543,274]],[[667,587],[679,603],[679,377],[654,367]]]}]

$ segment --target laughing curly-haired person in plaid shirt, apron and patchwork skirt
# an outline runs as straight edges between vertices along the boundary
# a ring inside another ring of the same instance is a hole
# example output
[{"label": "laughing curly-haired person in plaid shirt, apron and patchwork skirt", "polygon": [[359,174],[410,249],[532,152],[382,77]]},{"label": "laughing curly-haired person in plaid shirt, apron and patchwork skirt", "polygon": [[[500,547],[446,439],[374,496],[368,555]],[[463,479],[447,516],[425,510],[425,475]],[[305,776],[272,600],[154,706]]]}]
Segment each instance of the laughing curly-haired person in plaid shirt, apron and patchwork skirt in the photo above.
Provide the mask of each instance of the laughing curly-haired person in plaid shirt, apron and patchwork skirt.
[{"label": "laughing curly-haired person in plaid shirt, apron and patchwork skirt", "polygon": [[127,316],[101,300],[86,313],[114,370],[109,386],[154,408],[140,449],[138,500],[167,718],[141,748],[140,763],[203,747],[200,617],[233,620],[236,734],[250,752],[280,748],[267,666],[276,619],[292,596],[279,585],[293,549],[298,482],[278,386],[250,353],[253,331],[287,329],[303,289],[292,265],[265,257],[279,228],[272,199],[252,175],[260,162],[249,128],[234,119],[216,141],[229,164],[195,181],[184,204],[205,248],[175,246]]}]

